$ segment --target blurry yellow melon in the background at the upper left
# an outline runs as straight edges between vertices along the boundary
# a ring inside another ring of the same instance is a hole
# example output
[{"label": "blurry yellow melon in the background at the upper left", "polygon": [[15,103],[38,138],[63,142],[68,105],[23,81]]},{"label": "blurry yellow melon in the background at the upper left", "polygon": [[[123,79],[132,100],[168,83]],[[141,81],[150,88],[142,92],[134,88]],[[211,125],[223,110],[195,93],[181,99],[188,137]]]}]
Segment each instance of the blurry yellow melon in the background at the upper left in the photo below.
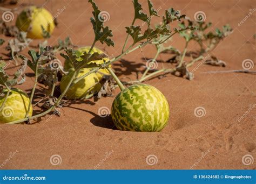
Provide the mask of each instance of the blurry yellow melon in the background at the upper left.
[{"label": "blurry yellow melon in the background at the upper left", "polygon": [[36,6],[24,9],[16,20],[16,26],[19,30],[28,32],[27,37],[32,39],[43,38],[42,26],[50,34],[55,28],[51,13]]}]

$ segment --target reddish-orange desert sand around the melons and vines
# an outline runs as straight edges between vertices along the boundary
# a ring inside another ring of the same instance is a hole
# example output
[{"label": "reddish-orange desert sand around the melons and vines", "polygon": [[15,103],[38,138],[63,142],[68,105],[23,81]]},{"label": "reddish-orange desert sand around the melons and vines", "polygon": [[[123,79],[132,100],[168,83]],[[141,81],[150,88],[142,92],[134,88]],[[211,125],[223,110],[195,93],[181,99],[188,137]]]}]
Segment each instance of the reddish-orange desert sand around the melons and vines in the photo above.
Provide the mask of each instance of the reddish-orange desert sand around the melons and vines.
[{"label": "reddish-orange desert sand around the melons and vines", "polygon": [[[30,1],[22,1],[29,3]],[[122,51],[126,37],[125,26],[132,22],[131,1],[96,1],[99,9],[107,11],[110,19],[105,23],[113,31],[115,47],[106,49],[109,55]],[[140,1],[147,7],[146,1]],[[33,1],[42,5],[45,1]],[[170,105],[170,119],[161,132],[127,132],[114,128],[111,115],[100,117],[100,107],[111,109],[120,89],[113,97],[73,100],[59,111],[60,117],[46,115],[33,125],[0,125],[0,165],[2,169],[255,169],[256,168],[256,75],[245,73],[206,73],[209,71],[242,69],[242,61],[255,63],[255,13],[240,26],[242,19],[255,7],[255,1],[153,1],[154,7],[173,7],[193,18],[204,11],[213,28],[230,24],[233,33],[211,53],[226,61],[226,67],[200,65],[192,81],[167,74],[145,81],[158,88]],[[65,6],[58,15],[58,26],[48,40],[55,45],[57,39],[70,36],[75,45],[90,45],[93,30],[90,23],[92,8],[87,1],[48,1],[44,8],[52,15]],[[131,17],[129,17],[131,15]],[[16,15],[17,16],[17,15]],[[16,17],[15,17],[16,18]],[[139,24],[139,23],[138,23]],[[4,39],[9,39],[1,36]],[[170,42],[184,47],[184,39],[175,36]],[[130,40],[131,41],[131,40]],[[38,41],[39,42],[39,41]],[[6,44],[6,43],[5,43]],[[2,45],[2,54],[5,53]],[[36,45],[34,41],[33,45]],[[196,49],[191,43],[188,49]],[[136,79],[144,70],[144,56],[153,58],[156,49],[149,45],[126,55],[114,63],[113,68],[122,77]],[[28,49],[22,52],[28,56]],[[158,59],[167,60],[169,54]],[[185,60],[190,58],[185,58]],[[62,60],[63,61],[63,60]],[[199,64],[196,63],[193,67]],[[170,63],[158,63],[158,68]],[[12,65],[13,66],[13,65]],[[139,67],[141,66],[141,67]],[[12,73],[17,67],[6,70]],[[122,71],[122,75],[120,72]],[[31,73],[31,70],[27,70]],[[30,93],[33,76],[28,75],[20,88]],[[38,88],[36,93],[39,94]],[[251,105],[251,106],[250,106]],[[198,117],[194,111],[204,108]],[[37,110],[42,109],[34,109]],[[250,113],[247,113],[250,111]],[[241,116],[244,118],[240,119]],[[12,155],[12,157],[10,157]],[[243,157],[251,155],[254,162],[247,165]],[[57,160],[57,164],[56,160]]]}]

